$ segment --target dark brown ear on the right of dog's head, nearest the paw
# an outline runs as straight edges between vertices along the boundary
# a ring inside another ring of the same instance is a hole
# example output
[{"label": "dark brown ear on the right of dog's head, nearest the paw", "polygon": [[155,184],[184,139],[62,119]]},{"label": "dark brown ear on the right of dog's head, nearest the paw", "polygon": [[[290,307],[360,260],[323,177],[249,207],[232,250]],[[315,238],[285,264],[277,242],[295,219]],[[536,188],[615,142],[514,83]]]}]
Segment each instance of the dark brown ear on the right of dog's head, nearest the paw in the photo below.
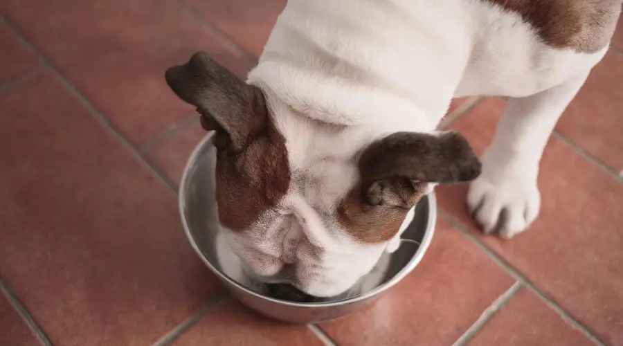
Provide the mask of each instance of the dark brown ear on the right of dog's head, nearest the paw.
[{"label": "dark brown ear on the right of dog's head, nearest the paw", "polygon": [[480,161],[458,132],[397,132],[365,148],[359,172],[364,201],[411,208],[428,183],[476,179]]}]

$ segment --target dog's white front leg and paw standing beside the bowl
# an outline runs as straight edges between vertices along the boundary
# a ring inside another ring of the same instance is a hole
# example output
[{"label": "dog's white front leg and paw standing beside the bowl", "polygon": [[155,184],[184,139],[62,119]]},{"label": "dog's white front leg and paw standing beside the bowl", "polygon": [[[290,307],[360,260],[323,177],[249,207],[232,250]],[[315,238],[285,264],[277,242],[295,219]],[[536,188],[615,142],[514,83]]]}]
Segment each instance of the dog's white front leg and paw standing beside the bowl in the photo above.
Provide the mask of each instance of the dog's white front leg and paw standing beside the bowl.
[{"label": "dog's white front leg and paw standing beside the bowl", "polygon": [[548,138],[588,73],[525,98],[510,98],[493,143],[482,154],[482,174],[469,187],[467,204],[485,233],[511,238],[539,214],[536,185]]}]

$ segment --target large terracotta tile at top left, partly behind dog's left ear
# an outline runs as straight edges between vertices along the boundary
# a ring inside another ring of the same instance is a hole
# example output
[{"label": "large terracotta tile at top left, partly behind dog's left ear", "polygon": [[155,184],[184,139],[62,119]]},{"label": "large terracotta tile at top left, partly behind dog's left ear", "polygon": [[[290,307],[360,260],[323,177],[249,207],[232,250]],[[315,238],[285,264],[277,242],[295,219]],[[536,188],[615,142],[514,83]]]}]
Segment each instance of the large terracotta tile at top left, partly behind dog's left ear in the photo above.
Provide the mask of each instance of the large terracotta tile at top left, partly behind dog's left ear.
[{"label": "large terracotta tile at top left, partly behind dog's left ear", "polygon": [[206,51],[239,75],[233,57],[173,1],[6,0],[25,35],[136,145],[188,116],[164,72]]}]

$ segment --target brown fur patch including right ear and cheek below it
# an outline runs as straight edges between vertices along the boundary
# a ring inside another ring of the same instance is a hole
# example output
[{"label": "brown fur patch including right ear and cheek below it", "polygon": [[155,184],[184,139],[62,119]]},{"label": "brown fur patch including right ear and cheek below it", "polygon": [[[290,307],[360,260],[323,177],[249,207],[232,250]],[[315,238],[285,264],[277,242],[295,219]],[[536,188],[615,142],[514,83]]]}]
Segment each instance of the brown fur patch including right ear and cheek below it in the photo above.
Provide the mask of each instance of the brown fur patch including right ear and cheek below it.
[{"label": "brown fur patch including right ear and cheek below it", "polygon": [[338,206],[338,222],[360,242],[386,242],[428,183],[470,181],[479,174],[480,161],[456,132],[391,134],[361,153],[359,183]]}]

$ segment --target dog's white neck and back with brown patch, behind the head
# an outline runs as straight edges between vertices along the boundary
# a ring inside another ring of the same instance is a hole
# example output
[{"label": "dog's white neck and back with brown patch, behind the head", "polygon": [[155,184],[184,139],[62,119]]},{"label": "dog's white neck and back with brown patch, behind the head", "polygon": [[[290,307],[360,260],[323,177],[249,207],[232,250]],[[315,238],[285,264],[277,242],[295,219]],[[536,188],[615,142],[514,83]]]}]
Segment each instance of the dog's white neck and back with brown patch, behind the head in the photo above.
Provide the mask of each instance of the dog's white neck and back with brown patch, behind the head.
[{"label": "dog's white neck and back with brown patch, behind the head", "polygon": [[[267,69],[280,75],[271,78],[258,71],[251,77],[262,74],[262,80],[280,80],[281,87],[272,89],[293,101],[295,109],[320,106],[347,111],[338,100],[311,93],[330,89],[327,93],[347,93],[350,102],[357,103],[357,88],[365,85],[410,100],[438,120],[453,96],[530,95],[575,72],[584,73],[602,58],[621,3],[289,0],[260,60],[260,66],[279,61],[278,69]],[[284,63],[296,76],[283,68]],[[307,86],[317,84],[318,89],[308,91],[309,100],[290,97],[290,90],[300,90],[283,84],[300,79],[307,80]],[[392,98],[385,101],[398,103]],[[348,124],[350,119],[331,114],[320,120]]]}]

